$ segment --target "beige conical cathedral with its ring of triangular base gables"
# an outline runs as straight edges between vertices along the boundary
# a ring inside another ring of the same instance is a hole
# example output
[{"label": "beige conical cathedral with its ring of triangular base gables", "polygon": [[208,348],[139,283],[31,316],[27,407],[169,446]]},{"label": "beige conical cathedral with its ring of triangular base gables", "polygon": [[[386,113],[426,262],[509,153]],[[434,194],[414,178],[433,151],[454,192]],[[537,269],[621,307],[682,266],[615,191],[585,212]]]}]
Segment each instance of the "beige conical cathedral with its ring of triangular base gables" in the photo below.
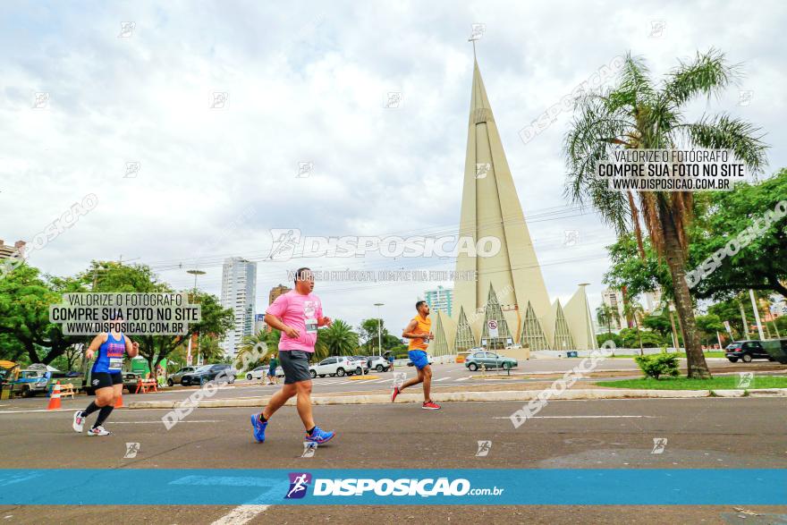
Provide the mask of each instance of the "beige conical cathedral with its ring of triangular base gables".
[{"label": "beige conical cathedral with its ring of triangular base gables", "polygon": [[566,302],[570,309],[549,301],[477,61],[462,184],[459,234],[477,253],[460,250],[456,258],[453,316],[438,311],[433,319],[432,354],[478,344],[512,351],[524,345],[534,351],[597,348],[584,284]]}]

